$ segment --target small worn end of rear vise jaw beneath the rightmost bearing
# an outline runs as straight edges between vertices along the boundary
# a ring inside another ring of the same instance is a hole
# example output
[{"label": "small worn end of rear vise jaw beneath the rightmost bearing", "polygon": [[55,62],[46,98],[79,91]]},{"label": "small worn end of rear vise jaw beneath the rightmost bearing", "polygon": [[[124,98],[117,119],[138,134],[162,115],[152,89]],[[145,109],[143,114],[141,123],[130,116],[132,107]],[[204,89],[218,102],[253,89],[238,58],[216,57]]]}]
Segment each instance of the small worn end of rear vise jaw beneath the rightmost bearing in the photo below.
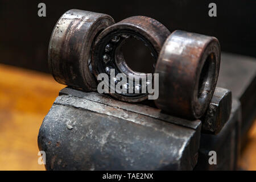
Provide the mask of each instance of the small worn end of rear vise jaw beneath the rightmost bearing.
[{"label": "small worn end of rear vise jaw beneath the rightmost bearing", "polygon": [[229,119],[232,93],[228,89],[216,87],[212,100],[201,118],[202,132],[218,134]]}]

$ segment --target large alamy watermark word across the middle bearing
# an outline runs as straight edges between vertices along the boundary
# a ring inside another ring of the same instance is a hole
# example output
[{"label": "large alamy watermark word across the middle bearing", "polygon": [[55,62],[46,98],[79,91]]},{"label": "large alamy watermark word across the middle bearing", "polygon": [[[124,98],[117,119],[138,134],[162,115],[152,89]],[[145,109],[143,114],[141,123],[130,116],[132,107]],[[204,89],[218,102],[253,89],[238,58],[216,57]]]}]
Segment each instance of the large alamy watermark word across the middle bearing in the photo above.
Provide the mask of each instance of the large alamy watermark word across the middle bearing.
[{"label": "large alamy watermark word across the middle bearing", "polygon": [[129,73],[127,77],[124,73],[115,76],[115,69],[110,69],[110,77],[107,73],[100,73],[97,80],[101,81],[97,87],[98,93],[148,93],[148,100],[156,100],[159,96],[158,73]]}]

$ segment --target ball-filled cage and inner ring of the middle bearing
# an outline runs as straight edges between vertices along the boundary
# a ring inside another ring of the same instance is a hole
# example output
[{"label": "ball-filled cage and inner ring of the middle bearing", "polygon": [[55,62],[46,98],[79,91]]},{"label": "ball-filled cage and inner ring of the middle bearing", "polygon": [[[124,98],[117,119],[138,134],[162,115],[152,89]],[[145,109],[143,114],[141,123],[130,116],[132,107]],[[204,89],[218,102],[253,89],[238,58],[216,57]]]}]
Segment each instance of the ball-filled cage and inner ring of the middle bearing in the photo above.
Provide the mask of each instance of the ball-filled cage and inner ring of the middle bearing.
[{"label": "ball-filled cage and inner ring of the middle bearing", "polygon": [[[98,53],[97,57],[99,57],[98,62],[98,72],[99,73],[107,73],[109,76],[109,84],[110,84],[110,69],[115,70],[115,76],[118,73],[124,73],[127,77],[129,77],[129,74],[133,74],[133,78],[139,80],[139,93],[129,93],[128,90],[130,86],[132,86],[133,91],[135,92],[135,87],[138,85],[135,85],[135,80],[133,81],[133,85],[129,84],[128,78],[127,78],[127,93],[122,93],[121,95],[129,96],[129,97],[143,97],[146,96],[146,94],[142,93],[142,78],[141,73],[134,72],[129,68],[129,66],[126,64],[126,61],[123,57],[121,47],[126,42],[127,39],[135,38],[138,40],[141,40],[145,46],[147,46],[150,51],[152,52],[153,57],[155,58],[155,63],[158,57],[158,53],[155,51],[155,49],[152,47],[151,43],[148,42],[148,40],[144,39],[141,35],[136,34],[135,32],[129,31],[129,30],[122,30],[122,31],[114,31],[110,32],[108,35],[106,35],[104,38],[101,39],[101,42],[98,43]],[[111,46],[110,46],[111,45]],[[111,48],[110,48],[111,47]],[[100,60],[101,57],[101,60]],[[108,61],[105,61],[105,57],[109,57]],[[107,71],[108,70],[108,71]],[[152,72],[154,73],[154,71]],[[147,80],[147,76],[146,76]],[[117,82],[115,82],[115,85]],[[146,85],[147,87],[147,85]],[[147,89],[147,88],[146,88]]]}]

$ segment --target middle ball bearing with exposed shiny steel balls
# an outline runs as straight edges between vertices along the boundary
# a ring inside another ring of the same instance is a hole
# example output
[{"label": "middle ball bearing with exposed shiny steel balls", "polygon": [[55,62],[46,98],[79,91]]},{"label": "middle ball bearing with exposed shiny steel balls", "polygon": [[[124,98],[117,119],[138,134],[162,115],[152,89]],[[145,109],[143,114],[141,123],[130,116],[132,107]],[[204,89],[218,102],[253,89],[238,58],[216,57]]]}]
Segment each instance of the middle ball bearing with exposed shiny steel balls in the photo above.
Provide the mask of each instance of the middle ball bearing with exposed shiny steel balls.
[{"label": "middle ball bearing with exposed shiny steel balls", "polygon": [[[164,41],[170,34],[170,31],[162,23],[146,16],[132,16],[113,24],[102,31],[96,39],[92,55],[94,75],[98,77],[100,73],[106,73],[110,82],[110,69],[114,69],[115,75],[123,73],[128,77],[130,73],[134,79],[139,79],[141,73],[133,71],[126,64],[122,45],[130,38],[141,40],[150,49],[151,55],[156,61]],[[154,73],[154,69],[152,70]],[[115,80],[114,84],[117,83],[118,81]],[[141,84],[135,85],[135,82],[129,84],[127,81],[122,88],[127,89],[127,93],[110,94],[118,100],[127,102],[139,102],[148,98],[148,93],[141,92]],[[133,89],[134,93],[129,93],[129,88]],[[110,90],[109,88],[104,89]],[[139,93],[135,93],[136,90]]]}]

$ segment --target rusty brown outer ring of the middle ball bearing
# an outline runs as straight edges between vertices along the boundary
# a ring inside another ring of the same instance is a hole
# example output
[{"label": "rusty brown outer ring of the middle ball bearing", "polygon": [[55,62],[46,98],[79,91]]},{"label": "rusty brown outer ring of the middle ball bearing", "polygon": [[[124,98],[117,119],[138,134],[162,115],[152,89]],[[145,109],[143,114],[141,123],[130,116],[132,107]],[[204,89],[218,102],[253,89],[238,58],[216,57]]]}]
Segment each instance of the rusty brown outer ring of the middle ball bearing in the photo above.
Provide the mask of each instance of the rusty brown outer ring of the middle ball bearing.
[{"label": "rusty brown outer ring of the middle ball bearing", "polygon": [[[98,71],[98,64],[102,61],[102,55],[98,53],[98,47],[102,44],[102,39],[115,31],[133,31],[135,34],[139,34],[155,49],[155,52],[159,55],[159,52],[163,46],[164,41],[171,34],[170,31],[160,22],[155,19],[148,18],[146,16],[131,16],[123,19],[121,22],[115,23],[112,26],[106,28],[98,35],[95,45],[93,47],[92,66],[94,76],[97,77],[101,72]],[[105,43],[104,43],[105,44]],[[110,93],[114,98],[126,102],[140,102],[146,100],[148,95],[144,97],[128,97],[121,94]]]}]

